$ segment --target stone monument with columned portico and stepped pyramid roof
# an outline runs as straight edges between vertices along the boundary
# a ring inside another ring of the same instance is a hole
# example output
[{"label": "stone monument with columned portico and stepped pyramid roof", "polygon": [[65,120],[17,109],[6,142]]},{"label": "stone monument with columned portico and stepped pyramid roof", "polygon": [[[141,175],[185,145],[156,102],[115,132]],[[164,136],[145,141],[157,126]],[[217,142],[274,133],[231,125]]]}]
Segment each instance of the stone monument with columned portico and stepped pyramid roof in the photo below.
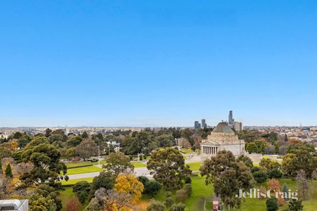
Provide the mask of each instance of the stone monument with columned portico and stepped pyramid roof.
[{"label": "stone monument with columned portico and stepped pyramid roof", "polygon": [[220,122],[207,139],[201,141],[201,155],[213,156],[218,151],[231,151],[233,155],[244,155],[245,143],[239,139],[227,122]]}]

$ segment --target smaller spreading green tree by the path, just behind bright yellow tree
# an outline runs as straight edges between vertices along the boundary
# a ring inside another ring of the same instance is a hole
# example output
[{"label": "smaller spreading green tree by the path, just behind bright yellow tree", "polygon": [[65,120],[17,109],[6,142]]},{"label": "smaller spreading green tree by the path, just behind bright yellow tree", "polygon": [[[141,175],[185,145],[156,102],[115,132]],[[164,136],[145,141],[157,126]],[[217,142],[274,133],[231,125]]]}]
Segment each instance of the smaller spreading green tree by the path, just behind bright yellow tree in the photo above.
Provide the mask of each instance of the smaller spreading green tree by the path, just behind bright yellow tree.
[{"label": "smaller spreading green tree by the path, just behind bright yellow tree", "polygon": [[120,173],[134,170],[130,158],[122,152],[110,153],[106,159],[106,165],[102,167],[111,172],[114,177],[117,177]]}]

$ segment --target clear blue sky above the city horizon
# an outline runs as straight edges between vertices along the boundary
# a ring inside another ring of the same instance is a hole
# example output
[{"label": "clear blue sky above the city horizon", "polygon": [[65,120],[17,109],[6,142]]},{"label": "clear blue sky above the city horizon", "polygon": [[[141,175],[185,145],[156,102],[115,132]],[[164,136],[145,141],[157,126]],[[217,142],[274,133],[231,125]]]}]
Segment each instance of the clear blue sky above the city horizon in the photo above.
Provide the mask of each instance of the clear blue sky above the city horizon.
[{"label": "clear blue sky above the city horizon", "polygon": [[1,1],[0,127],[317,124],[317,1]]}]

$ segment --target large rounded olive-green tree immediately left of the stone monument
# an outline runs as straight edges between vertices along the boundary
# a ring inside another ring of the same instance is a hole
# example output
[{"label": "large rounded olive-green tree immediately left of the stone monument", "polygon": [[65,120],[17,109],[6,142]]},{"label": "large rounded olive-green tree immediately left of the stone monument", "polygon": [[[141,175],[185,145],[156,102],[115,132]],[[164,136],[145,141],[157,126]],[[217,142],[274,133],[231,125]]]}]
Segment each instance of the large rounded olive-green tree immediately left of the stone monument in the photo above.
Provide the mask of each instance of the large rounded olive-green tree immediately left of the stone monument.
[{"label": "large rounded olive-green tree immediately left of the stone monument", "polygon": [[182,154],[175,148],[165,148],[152,153],[147,169],[154,173],[154,179],[163,184],[166,190],[177,190],[182,181],[192,174],[185,166]]}]

